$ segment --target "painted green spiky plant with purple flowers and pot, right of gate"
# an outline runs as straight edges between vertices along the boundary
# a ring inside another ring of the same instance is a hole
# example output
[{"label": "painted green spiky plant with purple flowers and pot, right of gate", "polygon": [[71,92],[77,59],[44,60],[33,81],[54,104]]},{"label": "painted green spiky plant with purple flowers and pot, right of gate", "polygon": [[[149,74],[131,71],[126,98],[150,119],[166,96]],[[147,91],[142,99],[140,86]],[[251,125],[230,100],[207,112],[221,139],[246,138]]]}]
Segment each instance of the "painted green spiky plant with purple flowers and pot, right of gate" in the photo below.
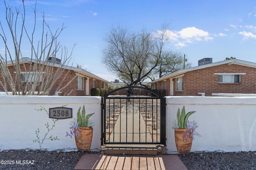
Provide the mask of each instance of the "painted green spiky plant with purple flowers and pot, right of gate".
[{"label": "painted green spiky plant with purple flowers and pot, right of gate", "polygon": [[173,122],[172,128],[174,130],[175,144],[179,153],[190,152],[194,135],[201,136],[196,132],[198,127],[195,121],[188,121],[188,117],[196,111],[190,111],[186,113],[185,106],[177,111],[177,121]]}]

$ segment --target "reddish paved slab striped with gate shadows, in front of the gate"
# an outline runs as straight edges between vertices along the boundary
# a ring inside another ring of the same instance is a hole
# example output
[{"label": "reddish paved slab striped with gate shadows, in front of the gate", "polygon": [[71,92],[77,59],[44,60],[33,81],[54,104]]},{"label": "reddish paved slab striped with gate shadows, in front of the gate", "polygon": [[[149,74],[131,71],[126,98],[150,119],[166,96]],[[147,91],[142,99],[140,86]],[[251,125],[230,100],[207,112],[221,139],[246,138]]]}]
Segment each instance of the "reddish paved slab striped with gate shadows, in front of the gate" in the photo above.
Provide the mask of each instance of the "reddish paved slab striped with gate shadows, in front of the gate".
[{"label": "reddish paved slab striped with gate shadows, in front of the gate", "polygon": [[75,170],[187,170],[178,155],[84,154]]}]

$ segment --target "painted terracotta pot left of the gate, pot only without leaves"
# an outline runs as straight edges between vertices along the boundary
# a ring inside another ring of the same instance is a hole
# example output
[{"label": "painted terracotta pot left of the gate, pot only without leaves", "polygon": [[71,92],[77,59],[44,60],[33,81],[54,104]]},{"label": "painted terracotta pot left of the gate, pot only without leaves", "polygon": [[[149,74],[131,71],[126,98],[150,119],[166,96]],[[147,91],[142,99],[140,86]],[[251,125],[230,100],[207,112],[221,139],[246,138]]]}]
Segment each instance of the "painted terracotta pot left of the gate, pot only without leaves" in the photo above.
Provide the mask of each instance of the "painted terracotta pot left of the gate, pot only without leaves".
[{"label": "painted terracotta pot left of the gate, pot only without leaves", "polygon": [[91,150],[93,128],[80,127],[80,130],[75,131],[80,133],[80,139],[75,135],[77,149],[80,151]]}]

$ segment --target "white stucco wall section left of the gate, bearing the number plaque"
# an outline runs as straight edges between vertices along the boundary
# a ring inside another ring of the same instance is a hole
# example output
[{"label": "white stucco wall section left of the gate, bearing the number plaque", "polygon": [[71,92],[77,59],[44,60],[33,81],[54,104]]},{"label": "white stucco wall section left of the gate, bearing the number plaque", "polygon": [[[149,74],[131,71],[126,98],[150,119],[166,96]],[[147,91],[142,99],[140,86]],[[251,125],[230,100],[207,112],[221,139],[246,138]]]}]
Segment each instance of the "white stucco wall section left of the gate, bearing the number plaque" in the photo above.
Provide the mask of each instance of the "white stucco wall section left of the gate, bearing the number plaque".
[{"label": "white stucco wall section left of the gate, bearing the number plaque", "polygon": [[[91,149],[101,149],[101,97],[79,96],[0,96],[0,150],[8,149],[39,149],[38,143],[33,143],[36,138],[35,131],[39,128],[42,140],[47,129],[45,123],[52,125],[52,119],[45,111],[36,111],[40,106],[49,110],[53,107],[72,108],[73,118],[82,106],[85,106],[86,115],[94,121],[94,131]],[[74,136],[66,137],[69,132],[70,119],[59,119],[49,135],[57,136],[56,141],[45,140],[42,149],[47,150],[73,150],[76,149]]]}]

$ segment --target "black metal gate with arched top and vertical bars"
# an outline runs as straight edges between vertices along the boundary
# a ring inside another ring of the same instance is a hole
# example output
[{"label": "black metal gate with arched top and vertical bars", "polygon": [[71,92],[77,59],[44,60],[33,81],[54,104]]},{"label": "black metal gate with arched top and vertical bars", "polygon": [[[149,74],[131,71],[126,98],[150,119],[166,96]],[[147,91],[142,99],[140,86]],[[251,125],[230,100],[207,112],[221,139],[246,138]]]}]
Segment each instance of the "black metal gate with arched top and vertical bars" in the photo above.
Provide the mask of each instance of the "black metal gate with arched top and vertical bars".
[{"label": "black metal gate with arched top and vertical bars", "polygon": [[166,143],[165,99],[140,86],[118,88],[102,100],[102,145]]}]

